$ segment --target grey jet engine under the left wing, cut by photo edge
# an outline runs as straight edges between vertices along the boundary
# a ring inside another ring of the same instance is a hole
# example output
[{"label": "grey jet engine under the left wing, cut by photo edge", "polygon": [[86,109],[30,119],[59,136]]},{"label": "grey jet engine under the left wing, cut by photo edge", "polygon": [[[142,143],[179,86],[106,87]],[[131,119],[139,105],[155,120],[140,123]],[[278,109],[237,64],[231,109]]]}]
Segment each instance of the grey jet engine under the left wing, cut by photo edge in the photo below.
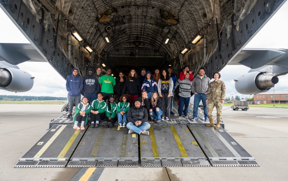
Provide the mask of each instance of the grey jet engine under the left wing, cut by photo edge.
[{"label": "grey jet engine under the left wing, cut by photo edge", "polygon": [[0,89],[11,92],[26,92],[32,89],[34,78],[26,71],[12,67],[0,68]]}]

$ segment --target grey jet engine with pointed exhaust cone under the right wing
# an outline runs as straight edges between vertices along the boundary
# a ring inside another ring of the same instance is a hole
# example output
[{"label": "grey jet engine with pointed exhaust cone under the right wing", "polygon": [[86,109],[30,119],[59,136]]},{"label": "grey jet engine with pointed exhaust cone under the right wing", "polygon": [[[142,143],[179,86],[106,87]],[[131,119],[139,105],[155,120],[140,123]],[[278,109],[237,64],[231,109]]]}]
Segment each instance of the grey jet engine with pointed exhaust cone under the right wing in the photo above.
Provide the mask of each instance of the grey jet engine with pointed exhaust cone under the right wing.
[{"label": "grey jet engine with pointed exhaust cone under the right wing", "polygon": [[240,94],[257,94],[268,91],[278,83],[279,79],[271,75],[264,75],[264,73],[255,71],[239,76],[234,80],[236,91]]}]

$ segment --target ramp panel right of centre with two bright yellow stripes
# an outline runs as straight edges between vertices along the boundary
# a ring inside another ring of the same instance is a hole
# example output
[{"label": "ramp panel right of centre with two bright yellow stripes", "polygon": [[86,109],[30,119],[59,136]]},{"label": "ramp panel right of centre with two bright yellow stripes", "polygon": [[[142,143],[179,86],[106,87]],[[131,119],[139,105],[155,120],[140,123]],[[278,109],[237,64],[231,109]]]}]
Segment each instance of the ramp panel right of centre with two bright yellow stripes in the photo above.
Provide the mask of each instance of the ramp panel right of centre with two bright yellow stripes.
[{"label": "ramp panel right of centre with two bright yellow stripes", "polygon": [[185,125],[151,125],[140,135],[141,167],[210,166]]}]

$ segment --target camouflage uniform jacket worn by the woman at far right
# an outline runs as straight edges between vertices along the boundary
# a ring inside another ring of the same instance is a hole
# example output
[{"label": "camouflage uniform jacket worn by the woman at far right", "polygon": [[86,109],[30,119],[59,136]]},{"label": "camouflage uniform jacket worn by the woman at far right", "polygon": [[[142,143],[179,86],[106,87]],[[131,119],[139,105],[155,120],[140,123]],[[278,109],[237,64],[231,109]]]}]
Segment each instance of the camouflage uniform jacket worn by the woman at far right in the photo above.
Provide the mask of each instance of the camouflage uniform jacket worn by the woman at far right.
[{"label": "camouflage uniform jacket worn by the woman at far right", "polygon": [[217,82],[212,81],[209,84],[206,99],[225,100],[225,89],[226,87],[223,81],[221,80],[218,80]]}]

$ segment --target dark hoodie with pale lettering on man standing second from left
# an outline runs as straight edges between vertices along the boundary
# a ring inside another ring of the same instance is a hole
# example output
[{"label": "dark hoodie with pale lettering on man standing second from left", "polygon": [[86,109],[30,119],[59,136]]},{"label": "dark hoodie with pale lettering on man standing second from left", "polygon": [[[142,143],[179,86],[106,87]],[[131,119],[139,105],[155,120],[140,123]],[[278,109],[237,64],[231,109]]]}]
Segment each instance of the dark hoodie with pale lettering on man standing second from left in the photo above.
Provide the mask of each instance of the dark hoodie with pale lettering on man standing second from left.
[{"label": "dark hoodie with pale lettering on man standing second from left", "polygon": [[[88,71],[92,71],[92,75],[89,76]],[[99,92],[99,82],[96,77],[94,77],[93,69],[88,69],[87,77],[83,79],[83,92],[87,94],[94,94]]]}]

